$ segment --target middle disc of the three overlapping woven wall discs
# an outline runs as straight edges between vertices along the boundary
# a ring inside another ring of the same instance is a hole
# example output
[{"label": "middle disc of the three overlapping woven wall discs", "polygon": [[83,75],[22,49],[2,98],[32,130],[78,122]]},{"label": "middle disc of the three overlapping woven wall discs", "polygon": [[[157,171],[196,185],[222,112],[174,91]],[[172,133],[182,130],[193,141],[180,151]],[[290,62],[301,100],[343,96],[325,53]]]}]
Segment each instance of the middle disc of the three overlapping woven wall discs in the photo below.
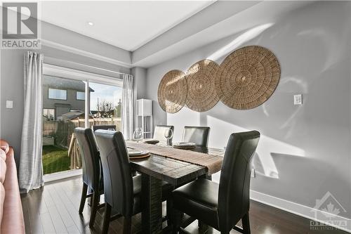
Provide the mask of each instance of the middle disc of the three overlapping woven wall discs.
[{"label": "middle disc of the three overlapping woven wall discs", "polygon": [[186,73],[188,108],[204,112],[218,103],[215,88],[216,72],[219,65],[211,60],[201,60],[192,65]]}]

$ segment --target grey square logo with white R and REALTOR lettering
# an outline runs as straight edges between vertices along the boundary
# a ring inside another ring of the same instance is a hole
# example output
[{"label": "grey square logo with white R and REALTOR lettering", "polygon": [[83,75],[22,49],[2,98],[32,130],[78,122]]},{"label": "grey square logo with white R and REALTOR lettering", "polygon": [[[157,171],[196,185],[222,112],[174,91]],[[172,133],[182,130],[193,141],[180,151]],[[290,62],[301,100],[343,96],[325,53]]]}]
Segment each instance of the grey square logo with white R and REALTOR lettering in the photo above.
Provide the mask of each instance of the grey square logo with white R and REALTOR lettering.
[{"label": "grey square logo with white R and REALTOR lettering", "polygon": [[2,4],[1,48],[39,48],[37,2]]}]

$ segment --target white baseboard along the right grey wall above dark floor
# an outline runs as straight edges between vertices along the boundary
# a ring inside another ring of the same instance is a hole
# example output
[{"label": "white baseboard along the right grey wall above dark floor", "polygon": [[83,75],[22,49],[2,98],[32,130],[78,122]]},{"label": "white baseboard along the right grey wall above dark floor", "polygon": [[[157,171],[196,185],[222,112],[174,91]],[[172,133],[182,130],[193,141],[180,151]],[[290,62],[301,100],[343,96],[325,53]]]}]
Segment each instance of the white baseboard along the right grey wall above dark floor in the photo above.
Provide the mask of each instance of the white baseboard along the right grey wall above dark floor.
[{"label": "white baseboard along the right grey wall above dark floor", "polygon": [[[250,190],[250,198],[251,200],[255,200],[257,202],[261,202],[263,204],[270,205],[271,207],[276,207],[278,209],[282,209],[286,212],[296,214],[298,216],[303,216],[307,219],[311,219],[313,221],[317,221],[319,223],[326,223],[329,226],[333,226],[334,228],[338,228],[340,230],[345,230],[347,233],[351,233],[351,219],[347,219],[343,216],[335,216],[340,223],[347,223],[347,226],[338,226],[337,224],[328,223],[326,221],[315,219],[315,216],[312,214],[313,212],[317,212],[319,214],[325,214],[325,212],[320,211],[319,209],[313,209],[312,207],[307,207],[303,204],[298,204],[295,202],[290,202],[288,200],[284,200],[278,197],[273,197],[271,195],[267,195],[264,193],[256,192],[254,190]],[[313,212],[312,212],[313,211]]]}]

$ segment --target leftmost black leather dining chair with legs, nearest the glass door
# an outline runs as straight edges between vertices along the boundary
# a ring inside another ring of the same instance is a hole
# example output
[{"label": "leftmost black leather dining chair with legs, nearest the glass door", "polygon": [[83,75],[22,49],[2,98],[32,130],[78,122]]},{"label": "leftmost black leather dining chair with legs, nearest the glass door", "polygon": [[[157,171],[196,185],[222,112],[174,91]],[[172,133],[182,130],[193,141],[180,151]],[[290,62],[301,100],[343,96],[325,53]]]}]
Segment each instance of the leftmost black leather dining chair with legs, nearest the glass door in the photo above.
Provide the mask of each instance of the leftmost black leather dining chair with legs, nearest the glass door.
[{"label": "leftmost black leather dining chair with legs, nearest the glass door", "polygon": [[[102,171],[100,165],[99,151],[93,135],[93,130],[76,128],[74,134],[77,138],[79,149],[81,151],[81,161],[83,168],[83,189],[81,191],[81,203],[79,205],[79,214],[83,212],[84,204],[87,197],[91,200],[91,218],[89,226],[93,227],[100,195],[103,194]],[[92,193],[87,193],[88,188]]]}]

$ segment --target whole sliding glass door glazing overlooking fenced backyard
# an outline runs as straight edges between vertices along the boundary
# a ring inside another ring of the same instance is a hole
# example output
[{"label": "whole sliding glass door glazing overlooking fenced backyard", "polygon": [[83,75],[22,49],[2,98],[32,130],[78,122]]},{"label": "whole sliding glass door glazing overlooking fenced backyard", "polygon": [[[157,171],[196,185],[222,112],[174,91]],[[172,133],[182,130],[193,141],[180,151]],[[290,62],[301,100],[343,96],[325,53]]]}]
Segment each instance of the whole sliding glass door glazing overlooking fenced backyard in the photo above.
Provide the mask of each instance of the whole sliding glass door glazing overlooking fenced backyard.
[{"label": "whole sliding glass door glazing overlooking fenced backyard", "polygon": [[44,174],[79,169],[81,155],[74,128],[103,126],[119,131],[121,85],[46,74],[43,83]]}]

